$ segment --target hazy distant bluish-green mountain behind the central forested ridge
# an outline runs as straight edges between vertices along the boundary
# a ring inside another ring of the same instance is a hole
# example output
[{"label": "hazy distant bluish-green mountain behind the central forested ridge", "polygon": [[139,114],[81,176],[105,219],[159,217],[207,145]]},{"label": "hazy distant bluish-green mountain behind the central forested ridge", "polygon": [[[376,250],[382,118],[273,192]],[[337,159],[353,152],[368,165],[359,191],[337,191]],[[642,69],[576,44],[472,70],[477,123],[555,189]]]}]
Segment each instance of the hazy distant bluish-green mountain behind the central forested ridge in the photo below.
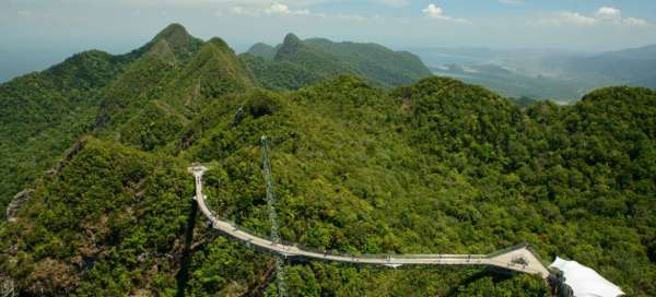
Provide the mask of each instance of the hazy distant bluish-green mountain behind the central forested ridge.
[{"label": "hazy distant bluish-green mountain behind the central forested ridge", "polygon": [[242,60],[269,90],[296,90],[338,74],[355,74],[382,87],[417,82],[431,75],[421,60],[407,51],[376,44],[301,40],[293,34],[276,47],[256,44]]}]

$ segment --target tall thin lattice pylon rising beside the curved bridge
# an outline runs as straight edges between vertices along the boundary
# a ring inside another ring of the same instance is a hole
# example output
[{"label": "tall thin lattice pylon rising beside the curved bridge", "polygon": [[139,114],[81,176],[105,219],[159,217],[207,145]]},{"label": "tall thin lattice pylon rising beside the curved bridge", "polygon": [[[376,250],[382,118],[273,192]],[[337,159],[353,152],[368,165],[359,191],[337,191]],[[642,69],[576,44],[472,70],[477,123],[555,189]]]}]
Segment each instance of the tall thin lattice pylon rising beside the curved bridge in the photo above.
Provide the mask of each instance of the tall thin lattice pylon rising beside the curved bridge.
[{"label": "tall thin lattice pylon rising beside the curved bridge", "polygon": [[[265,171],[265,182],[267,186],[267,209],[269,211],[269,224],[271,225],[271,241],[273,243],[282,243],[280,238],[280,225],[278,222],[278,213],[276,212],[276,195],[273,194],[273,182],[271,179],[271,162],[269,161],[269,145],[268,138],[262,135],[260,139],[262,143],[262,169]],[[286,296],[286,285],[284,277],[284,260],[281,256],[276,254],[273,257],[276,261],[276,281],[278,285],[278,295]]]}]

